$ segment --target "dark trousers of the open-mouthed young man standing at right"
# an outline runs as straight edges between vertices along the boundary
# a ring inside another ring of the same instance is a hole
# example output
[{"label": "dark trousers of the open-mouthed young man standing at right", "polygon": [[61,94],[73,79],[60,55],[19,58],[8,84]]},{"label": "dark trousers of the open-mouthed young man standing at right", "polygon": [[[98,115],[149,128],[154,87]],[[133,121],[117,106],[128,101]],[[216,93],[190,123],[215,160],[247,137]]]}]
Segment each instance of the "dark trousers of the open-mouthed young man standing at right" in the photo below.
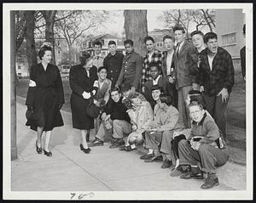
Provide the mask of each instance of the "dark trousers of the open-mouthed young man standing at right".
[{"label": "dark trousers of the open-mouthed young man standing at right", "polygon": [[222,102],[222,95],[209,97],[205,95],[207,110],[216,122],[219,130],[223,133],[226,140],[226,110],[228,103]]}]

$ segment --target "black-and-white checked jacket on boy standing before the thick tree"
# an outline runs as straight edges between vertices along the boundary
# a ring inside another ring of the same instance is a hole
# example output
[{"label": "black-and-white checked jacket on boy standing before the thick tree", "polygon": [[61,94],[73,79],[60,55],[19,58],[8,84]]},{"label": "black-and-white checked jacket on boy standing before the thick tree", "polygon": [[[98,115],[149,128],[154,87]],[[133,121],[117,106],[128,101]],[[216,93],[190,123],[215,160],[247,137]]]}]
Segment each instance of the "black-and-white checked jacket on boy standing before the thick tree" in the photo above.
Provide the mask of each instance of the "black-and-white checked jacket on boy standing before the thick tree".
[{"label": "black-and-white checked jacket on boy standing before the thick tree", "polygon": [[[151,57],[151,61],[159,62],[160,67],[161,67],[161,59],[162,59],[162,53],[159,50],[154,49],[154,53]],[[148,64],[151,61],[149,61],[149,57],[148,57],[148,53],[147,53],[146,56],[143,58],[142,87],[144,87],[145,82],[152,79],[151,76],[150,76],[150,70],[149,70],[149,66],[148,66]]]}]

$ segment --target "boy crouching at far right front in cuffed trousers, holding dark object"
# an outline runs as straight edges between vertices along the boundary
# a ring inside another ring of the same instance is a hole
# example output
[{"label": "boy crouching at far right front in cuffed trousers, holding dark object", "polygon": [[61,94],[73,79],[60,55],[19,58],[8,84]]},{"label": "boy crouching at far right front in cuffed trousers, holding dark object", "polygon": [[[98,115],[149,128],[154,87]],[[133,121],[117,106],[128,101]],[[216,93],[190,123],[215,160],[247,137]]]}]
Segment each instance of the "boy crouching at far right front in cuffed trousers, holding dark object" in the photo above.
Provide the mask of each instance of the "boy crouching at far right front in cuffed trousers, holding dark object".
[{"label": "boy crouching at far right front in cuffed trousers, holding dark object", "polygon": [[202,104],[191,102],[189,112],[193,120],[191,134],[178,143],[178,154],[180,165],[189,165],[190,171],[180,178],[202,179],[202,172],[206,172],[207,179],[201,189],[211,189],[218,185],[217,169],[228,161],[228,150],[222,133],[215,121],[207,116]]}]

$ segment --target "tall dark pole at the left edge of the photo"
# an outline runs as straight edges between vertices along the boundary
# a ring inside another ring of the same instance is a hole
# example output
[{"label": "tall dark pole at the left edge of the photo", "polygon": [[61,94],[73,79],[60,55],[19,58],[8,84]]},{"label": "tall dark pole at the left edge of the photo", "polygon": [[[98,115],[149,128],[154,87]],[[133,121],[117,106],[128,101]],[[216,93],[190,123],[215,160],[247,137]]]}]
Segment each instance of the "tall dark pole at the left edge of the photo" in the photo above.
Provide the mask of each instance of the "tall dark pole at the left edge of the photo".
[{"label": "tall dark pole at the left edge of the photo", "polygon": [[11,161],[18,158],[16,144],[16,68],[15,68],[15,11],[10,11],[10,104],[11,104]]}]

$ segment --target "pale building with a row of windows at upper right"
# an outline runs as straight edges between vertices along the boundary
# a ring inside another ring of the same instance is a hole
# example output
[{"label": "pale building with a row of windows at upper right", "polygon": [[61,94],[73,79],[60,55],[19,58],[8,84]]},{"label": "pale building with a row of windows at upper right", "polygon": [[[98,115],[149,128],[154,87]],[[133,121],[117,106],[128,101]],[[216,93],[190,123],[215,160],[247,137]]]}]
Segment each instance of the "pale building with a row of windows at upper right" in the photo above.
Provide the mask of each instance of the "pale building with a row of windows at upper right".
[{"label": "pale building with a row of windows at upper right", "polygon": [[245,45],[242,26],[246,16],[242,9],[216,9],[216,33],[218,46],[232,56],[234,65],[240,64],[240,49]]}]

